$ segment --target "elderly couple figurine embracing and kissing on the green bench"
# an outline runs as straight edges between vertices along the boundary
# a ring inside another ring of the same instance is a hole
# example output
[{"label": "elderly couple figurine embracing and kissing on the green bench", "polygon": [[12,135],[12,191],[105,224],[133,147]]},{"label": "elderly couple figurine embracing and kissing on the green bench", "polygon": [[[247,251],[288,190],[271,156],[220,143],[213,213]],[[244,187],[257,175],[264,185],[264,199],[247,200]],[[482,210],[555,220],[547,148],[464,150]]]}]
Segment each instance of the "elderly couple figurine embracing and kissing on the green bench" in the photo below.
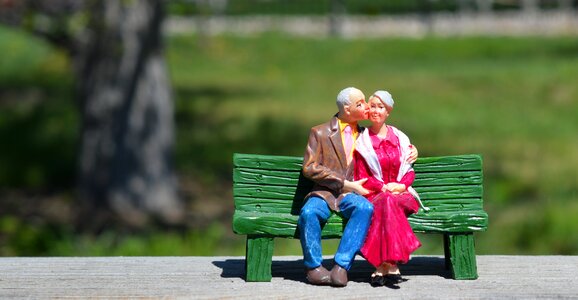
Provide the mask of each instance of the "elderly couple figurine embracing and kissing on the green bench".
[{"label": "elderly couple figurine embracing and kissing on the green bench", "polygon": [[[311,129],[303,175],[314,182],[298,221],[306,277],[315,285],[343,287],[356,254],[375,266],[372,286],[399,288],[398,264],[420,247],[407,216],[421,202],[411,184],[417,149],[408,137],[385,124],[393,98],[377,91],[365,102],[357,88],[337,95],[338,113]],[[369,119],[367,129],[357,123]],[[323,267],[321,229],[337,212],[347,225],[331,271]]]}]

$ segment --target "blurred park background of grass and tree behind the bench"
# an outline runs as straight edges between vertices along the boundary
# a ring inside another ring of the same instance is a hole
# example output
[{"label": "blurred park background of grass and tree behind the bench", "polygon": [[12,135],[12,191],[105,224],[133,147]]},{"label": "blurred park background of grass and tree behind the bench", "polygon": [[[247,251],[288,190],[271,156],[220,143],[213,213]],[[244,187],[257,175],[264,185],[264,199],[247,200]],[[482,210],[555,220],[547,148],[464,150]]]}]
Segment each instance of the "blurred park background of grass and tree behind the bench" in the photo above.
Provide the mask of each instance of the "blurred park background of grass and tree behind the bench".
[{"label": "blurred park background of grass and tree behind the bench", "polygon": [[[578,255],[577,13],[575,0],[0,0],[0,255],[244,255],[232,154],[301,156],[347,86],[390,91],[389,123],[420,156],[482,154],[478,254]],[[419,237],[416,254],[443,253]]]}]

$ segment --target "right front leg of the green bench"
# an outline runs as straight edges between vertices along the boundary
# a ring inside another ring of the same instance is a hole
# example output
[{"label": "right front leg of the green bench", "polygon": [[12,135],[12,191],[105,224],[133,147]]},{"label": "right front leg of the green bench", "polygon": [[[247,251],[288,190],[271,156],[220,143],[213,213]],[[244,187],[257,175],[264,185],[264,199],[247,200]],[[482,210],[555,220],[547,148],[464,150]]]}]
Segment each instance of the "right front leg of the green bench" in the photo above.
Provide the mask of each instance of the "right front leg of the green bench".
[{"label": "right front leg of the green bench", "polygon": [[444,234],[444,252],[454,279],[478,278],[473,233]]}]

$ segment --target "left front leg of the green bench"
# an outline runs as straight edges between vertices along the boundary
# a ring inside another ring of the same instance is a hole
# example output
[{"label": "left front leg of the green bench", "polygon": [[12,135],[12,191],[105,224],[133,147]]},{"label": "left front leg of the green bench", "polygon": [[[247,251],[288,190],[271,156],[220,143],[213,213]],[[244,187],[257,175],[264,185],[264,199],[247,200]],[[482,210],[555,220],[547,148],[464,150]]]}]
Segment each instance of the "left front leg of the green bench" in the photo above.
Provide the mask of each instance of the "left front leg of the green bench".
[{"label": "left front leg of the green bench", "polygon": [[247,236],[246,281],[271,281],[273,238]]}]

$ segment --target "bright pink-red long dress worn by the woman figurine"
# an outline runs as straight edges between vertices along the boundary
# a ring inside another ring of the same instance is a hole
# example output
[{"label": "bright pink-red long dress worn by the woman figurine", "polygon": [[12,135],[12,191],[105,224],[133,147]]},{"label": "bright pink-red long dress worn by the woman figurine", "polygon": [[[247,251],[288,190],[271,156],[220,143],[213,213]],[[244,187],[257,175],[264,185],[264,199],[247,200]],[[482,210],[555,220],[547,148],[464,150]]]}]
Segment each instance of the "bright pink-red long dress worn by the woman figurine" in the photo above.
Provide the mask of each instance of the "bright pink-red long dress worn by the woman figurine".
[{"label": "bright pink-red long dress worn by the woman figurine", "polygon": [[[388,128],[384,139],[371,132],[369,136],[381,165],[383,181],[398,182],[400,166],[398,137],[391,128]],[[361,254],[375,267],[384,262],[407,263],[410,254],[421,246],[407,220],[409,215],[418,211],[418,202],[407,191],[401,194],[382,192],[384,183],[371,175],[361,154],[355,152],[354,159],[355,180],[368,178],[363,186],[370,191],[366,198],[373,203],[373,217]],[[409,187],[414,179],[415,173],[410,171],[398,183]]]}]

